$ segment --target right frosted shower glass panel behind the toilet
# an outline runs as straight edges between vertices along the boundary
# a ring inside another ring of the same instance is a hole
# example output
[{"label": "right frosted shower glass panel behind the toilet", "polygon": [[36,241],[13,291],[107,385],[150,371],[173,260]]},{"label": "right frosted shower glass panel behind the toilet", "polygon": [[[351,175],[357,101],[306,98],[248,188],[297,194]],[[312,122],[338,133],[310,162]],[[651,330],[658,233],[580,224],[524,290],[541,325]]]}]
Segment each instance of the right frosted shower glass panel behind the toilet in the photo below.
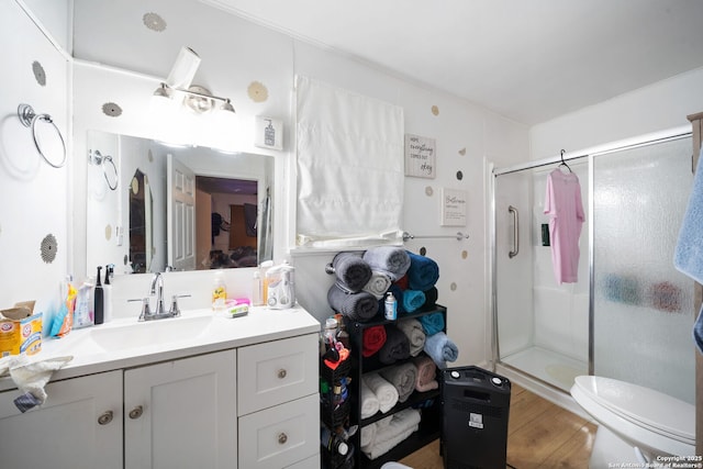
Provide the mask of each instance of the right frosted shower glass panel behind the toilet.
[{"label": "right frosted shower glass panel behind the toilet", "polygon": [[693,282],[673,267],[691,138],[593,157],[594,373],[694,401]]}]

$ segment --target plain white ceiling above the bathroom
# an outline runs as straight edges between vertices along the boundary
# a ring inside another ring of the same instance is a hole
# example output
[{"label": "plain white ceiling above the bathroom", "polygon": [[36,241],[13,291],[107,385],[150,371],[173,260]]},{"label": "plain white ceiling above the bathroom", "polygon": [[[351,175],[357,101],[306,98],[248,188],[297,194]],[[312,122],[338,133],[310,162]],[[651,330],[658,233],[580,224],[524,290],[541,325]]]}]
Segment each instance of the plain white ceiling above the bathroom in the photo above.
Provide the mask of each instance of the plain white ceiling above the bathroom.
[{"label": "plain white ceiling above the bathroom", "polygon": [[200,0],[527,125],[703,67],[701,0]]}]

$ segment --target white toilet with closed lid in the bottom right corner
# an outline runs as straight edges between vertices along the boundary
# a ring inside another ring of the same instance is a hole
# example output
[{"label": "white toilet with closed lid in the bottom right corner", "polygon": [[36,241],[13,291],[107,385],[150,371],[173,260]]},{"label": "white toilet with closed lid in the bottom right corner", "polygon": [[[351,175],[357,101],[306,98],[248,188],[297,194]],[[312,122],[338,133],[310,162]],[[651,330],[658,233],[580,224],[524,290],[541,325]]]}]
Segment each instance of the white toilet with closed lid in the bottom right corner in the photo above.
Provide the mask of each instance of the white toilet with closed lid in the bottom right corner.
[{"label": "white toilet with closed lid in the bottom right corner", "polygon": [[571,395],[599,424],[589,468],[695,455],[695,407],[688,402],[595,376],[577,377]]}]

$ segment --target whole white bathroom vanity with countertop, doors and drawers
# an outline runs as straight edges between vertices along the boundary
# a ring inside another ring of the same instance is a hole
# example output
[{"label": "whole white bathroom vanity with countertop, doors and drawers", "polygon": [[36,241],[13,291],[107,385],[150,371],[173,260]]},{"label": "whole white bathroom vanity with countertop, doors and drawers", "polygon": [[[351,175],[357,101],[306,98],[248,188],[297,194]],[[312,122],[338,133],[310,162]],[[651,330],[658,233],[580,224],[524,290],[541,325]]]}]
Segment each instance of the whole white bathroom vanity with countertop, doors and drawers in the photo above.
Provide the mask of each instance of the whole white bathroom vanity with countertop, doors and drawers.
[{"label": "whole white bathroom vanity with countertop, doors and drawers", "polygon": [[320,324],[300,308],[136,317],[46,339],[71,355],[41,409],[0,380],[1,466],[319,468]]}]

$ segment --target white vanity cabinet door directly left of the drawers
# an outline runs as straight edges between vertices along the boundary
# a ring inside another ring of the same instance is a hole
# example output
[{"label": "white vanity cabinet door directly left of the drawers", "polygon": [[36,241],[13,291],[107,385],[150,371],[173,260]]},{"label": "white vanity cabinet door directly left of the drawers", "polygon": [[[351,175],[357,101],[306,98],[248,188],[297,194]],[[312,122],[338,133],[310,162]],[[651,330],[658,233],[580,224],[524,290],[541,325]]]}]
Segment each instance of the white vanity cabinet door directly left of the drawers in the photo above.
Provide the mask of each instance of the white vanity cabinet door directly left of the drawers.
[{"label": "white vanity cabinet door directly left of the drawers", "polygon": [[236,353],[124,372],[125,469],[236,468]]}]

